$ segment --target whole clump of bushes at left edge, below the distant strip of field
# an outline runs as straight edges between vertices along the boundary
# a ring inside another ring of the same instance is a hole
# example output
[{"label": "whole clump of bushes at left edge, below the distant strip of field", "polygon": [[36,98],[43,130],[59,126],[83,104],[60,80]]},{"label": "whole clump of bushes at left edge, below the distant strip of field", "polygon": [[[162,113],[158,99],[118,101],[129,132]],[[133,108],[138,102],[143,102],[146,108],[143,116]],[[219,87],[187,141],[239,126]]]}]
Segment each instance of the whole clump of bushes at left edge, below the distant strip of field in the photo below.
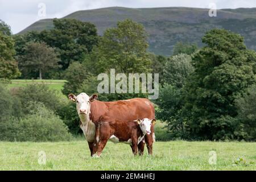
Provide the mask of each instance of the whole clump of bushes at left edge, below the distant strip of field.
[{"label": "whole clump of bushes at left edge, below the distant strip of field", "polygon": [[0,94],[0,140],[46,142],[72,138],[67,126],[53,113],[59,103],[56,96],[43,84],[12,92],[0,84]]}]

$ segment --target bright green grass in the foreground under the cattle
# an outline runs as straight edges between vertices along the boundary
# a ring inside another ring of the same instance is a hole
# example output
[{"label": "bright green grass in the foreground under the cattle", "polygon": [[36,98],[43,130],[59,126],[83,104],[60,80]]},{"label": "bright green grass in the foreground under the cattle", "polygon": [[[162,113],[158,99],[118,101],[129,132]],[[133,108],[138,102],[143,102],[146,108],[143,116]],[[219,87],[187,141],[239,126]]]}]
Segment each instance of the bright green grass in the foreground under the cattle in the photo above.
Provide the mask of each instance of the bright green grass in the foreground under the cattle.
[{"label": "bright green grass in the foreground under the cattle", "polygon": [[[46,164],[38,164],[39,151]],[[208,162],[210,151],[216,165]],[[0,142],[0,170],[256,170],[255,151],[256,143],[174,141],[154,143],[153,156],[134,157],[127,144],[108,142],[101,158],[91,158],[81,140]]]}]

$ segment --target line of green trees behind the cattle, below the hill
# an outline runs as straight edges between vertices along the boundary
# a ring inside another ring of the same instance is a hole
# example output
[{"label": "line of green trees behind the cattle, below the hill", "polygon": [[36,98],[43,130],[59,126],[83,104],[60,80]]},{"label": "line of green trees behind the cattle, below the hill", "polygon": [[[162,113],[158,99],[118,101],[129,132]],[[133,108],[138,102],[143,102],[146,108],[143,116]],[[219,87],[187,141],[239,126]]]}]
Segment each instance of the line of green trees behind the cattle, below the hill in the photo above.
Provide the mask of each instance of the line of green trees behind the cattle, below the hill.
[{"label": "line of green trees behind the cattle, below the hill", "polygon": [[[178,42],[172,56],[164,56],[148,52],[147,32],[130,19],[102,36],[94,24],[75,19],[54,19],[53,25],[51,30],[11,35],[1,21],[0,78],[64,78],[62,92],[67,95],[96,93],[97,75],[110,68],[126,74],[159,73],[159,98],[152,102],[156,118],[168,123],[171,139],[256,139],[256,53],[246,48],[242,36],[213,29],[203,36],[204,47]],[[100,94],[99,98],[146,96]],[[47,107],[44,100],[36,102]],[[47,108],[71,133],[79,133],[75,105]]]}]

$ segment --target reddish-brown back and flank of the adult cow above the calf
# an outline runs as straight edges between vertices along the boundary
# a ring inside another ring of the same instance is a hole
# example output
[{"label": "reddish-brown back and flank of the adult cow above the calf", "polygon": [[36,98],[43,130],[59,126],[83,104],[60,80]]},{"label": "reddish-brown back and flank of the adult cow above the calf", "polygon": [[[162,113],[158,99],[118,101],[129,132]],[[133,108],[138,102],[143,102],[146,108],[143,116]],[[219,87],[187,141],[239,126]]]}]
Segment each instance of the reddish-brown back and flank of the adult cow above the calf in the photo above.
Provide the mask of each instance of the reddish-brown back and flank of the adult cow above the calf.
[{"label": "reddish-brown back and flank of the adult cow above the calf", "polygon": [[132,98],[113,102],[92,102],[90,116],[92,121],[97,122],[101,115],[123,121],[143,118],[153,119],[155,118],[155,109],[154,105],[146,98]]}]

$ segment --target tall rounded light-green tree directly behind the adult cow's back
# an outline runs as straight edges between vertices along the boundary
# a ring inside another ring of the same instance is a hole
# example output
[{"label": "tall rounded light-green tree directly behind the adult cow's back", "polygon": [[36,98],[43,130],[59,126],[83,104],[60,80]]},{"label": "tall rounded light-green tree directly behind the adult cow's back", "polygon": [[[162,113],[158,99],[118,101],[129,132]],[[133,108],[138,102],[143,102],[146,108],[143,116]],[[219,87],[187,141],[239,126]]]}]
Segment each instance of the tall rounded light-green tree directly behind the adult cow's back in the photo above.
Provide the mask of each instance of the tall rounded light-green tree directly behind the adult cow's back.
[{"label": "tall rounded light-green tree directly behind the adult cow's back", "polygon": [[147,53],[147,33],[142,24],[126,19],[117,23],[116,28],[108,28],[98,48],[93,49],[89,64],[97,68],[97,73],[147,73],[151,71],[151,60]]}]

